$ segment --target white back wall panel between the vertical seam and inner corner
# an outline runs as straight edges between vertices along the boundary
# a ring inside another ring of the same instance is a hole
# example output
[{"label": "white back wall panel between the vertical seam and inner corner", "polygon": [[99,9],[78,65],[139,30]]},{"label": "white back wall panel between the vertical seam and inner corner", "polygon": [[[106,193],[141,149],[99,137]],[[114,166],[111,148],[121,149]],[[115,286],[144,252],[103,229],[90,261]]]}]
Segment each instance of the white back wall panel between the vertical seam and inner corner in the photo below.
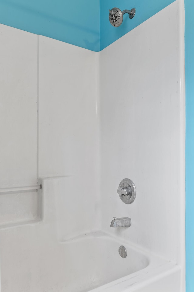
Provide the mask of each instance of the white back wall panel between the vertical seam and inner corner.
[{"label": "white back wall panel between the vertical seam and inner corner", "polygon": [[100,227],[97,70],[97,53],[39,37],[39,177],[66,177],[64,239]]}]

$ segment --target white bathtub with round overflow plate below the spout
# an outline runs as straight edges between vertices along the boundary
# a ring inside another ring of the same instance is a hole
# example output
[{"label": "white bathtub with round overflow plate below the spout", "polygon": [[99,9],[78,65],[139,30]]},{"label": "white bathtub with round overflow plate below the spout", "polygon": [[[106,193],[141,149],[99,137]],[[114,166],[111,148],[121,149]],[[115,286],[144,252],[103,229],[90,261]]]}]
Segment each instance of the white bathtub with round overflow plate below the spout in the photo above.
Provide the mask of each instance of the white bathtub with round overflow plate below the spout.
[{"label": "white bathtub with round overflow plate below the spout", "polygon": [[[49,238],[45,248],[43,224],[35,225],[33,230],[40,228],[36,243],[29,245],[18,236],[17,252],[2,245],[2,292],[180,291],[179,266],[123,240],[99,231],[61,243]],[[120,245],[127,249],[125,259],[119,255]]]}]

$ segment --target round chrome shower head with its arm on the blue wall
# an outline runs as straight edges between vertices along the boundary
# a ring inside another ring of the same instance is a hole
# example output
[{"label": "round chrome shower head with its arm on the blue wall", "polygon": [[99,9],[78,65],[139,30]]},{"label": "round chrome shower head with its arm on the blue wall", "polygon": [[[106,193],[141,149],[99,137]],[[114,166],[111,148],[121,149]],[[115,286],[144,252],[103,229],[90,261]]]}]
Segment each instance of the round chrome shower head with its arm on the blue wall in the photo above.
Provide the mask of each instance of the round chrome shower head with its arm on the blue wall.
[{"label": "round chrome shower head with its arm on the blue wall", "polygon": [[125,13],[129,14],[129,18],[132,19],[135,15],[135,8],[132,8],[131,10],[123,10],[114,7],[111,10],[109,9],[109,21],[112,26],[119,27],[123,21],[123,15]]}]

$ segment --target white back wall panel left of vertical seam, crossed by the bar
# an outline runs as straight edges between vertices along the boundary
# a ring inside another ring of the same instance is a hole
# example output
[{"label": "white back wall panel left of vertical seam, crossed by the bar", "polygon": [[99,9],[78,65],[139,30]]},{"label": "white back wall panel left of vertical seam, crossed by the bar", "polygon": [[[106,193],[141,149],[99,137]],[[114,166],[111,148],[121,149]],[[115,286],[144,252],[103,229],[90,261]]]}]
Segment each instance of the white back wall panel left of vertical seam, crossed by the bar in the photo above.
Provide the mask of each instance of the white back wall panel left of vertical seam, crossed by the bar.
[{"label": "white back wall panel left of vertical seam, crossed by the bar", "polygon": [[[37,183],[37,36],[0,25],[0,188]],[[36,220],[36,192],[0,194],[0,226]]]}]

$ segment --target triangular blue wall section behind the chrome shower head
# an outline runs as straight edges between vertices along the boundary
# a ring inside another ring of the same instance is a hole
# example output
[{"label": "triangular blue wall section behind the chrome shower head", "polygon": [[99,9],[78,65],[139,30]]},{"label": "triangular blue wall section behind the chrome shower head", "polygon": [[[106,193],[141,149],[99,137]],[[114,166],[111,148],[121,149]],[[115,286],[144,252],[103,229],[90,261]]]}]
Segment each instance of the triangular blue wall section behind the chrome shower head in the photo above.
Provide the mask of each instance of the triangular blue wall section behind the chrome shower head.
[{"label": "triangular blue wall section behind the chrome shower head", "polygon": [[[125,33],[144,22],[175,0],[100,0],[100,50],[119,39]],[[122,25],[113,27],[109,23],[109,9],[119,7],[121,10],[136,9],[133,19],[127,14],[123,17]]]}]

